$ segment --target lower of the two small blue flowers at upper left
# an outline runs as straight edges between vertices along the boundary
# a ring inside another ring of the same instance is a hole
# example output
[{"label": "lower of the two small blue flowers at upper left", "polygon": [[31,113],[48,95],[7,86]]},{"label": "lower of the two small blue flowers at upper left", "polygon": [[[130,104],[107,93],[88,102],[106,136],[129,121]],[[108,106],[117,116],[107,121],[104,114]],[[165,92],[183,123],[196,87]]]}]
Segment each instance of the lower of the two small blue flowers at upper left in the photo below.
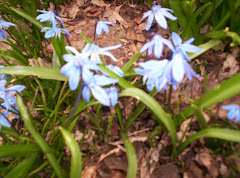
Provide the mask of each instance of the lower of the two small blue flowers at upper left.
[{"label": "lower of the two small blue flowers at upper left", "polygon": [[45,38],[52,38],[52,37],[55,36],[55,38],[58,37],[60,39],[61,38],[61,33],[65,33],[65,34],[69,35],[70,37],[72,37],[72,35],[67,30],[65,30],[63,28],[58,28],[56,26],[53,26],[52,28],[44,27],[41,30],[41,32],[45,32],[45,31],[47,31],[45,33]]}]

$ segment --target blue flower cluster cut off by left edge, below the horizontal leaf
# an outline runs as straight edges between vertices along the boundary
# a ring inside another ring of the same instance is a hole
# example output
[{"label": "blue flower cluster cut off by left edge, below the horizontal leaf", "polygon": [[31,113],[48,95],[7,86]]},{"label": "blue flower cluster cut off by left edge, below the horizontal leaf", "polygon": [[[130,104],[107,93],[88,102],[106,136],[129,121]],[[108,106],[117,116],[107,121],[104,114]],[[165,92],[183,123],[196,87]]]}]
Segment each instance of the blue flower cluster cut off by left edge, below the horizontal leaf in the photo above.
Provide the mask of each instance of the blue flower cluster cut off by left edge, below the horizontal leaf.
[{"label": "blue flower cluster cut off by left edge, below the horizontal leaf", "polygon": [[[6,83],[7,81],[4,78],[1,78],[0,80],[0,100],[1,100],[0,131],[1,131],[2,125],[6,127],[11,127],[11,124],[7,119],[10,112],[12,112],[17,119],[19,118],[19,116],[16,114],[18,112],[18,107],[16,104],[15,94],[25,89],[25,86],[23,85],[14,85],[9,88],[6,88],[5,87]],[[3,110],[5,111],[2,113]]]}]

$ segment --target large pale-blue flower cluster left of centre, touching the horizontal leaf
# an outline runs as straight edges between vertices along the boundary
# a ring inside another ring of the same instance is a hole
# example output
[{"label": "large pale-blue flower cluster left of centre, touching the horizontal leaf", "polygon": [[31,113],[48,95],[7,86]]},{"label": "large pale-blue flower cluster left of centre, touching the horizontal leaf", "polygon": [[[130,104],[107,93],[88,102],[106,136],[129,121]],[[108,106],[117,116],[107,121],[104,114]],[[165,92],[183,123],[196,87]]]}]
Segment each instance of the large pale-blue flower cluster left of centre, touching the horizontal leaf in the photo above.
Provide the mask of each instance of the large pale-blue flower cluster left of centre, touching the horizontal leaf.
[{"label": "large pale-blue flower cluster left of centre, touching the horizontal leaf", "polygon": [[[75,48],[66,46],[66,50],[73,54],[64,54],[63,59],[67,62],[60,72],[69,78],[69,86],[71,90],[76,90],[80,80],[83,81],[83,99],[86,102],[90,101],[91,92],[96,100],[105,106],[115,106],[118,99],[118,90],[114,86],[118,79],[108,77],[108,74],[101,72],[97,64],[101,64],[100,55],[107,55],[112,60],[117,59],[108,52],[112,49],[117,49],[121,45],[109,46],[101,48],[94,43],[87,44],[82,52],[79,53]],[[119,76],[123,76],[122,70],[117,66],[106,66]],[[99,72],[102,75],[98,74]],[[112,85],[110,88],[102,88],[102,86]]]}]

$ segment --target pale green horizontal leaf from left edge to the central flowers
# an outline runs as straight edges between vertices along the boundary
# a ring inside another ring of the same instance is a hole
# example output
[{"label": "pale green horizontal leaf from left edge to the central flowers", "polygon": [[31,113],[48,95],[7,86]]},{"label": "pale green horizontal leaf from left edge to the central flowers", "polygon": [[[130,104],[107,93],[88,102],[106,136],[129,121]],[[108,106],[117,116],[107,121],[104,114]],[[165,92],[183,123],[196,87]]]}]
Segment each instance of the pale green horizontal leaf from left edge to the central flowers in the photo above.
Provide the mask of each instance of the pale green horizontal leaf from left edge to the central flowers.
[{"label": "pale green horizontal leaf from left edge to the central flowers", "polygon": [[47,67],[31,67],[31,66],[6,66],[0,69],[0,74],[9,75],[34,75],[41,79],[51,79],[67,81],[68,78],[62,75],[59,69]]}]

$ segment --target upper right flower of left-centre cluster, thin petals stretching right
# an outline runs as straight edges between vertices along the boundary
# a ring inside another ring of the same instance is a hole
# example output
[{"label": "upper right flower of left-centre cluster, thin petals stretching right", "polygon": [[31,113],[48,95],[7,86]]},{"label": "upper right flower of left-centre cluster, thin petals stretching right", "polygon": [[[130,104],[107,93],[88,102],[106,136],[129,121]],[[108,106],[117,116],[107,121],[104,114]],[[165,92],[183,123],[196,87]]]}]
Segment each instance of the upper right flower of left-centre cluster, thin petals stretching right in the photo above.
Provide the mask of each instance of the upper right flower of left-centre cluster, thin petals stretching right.
[{"label": "upper right flower of left-centre cluster, thin petals stretching right", "polygon": [[119,45],[115,45],[115,46],[101,48],[101,47],[95,45],[94,43],[92,43],[91,45],[87,44],[83,48],[82,52],[89,55],[90,61],[94,62],[95,64],[101,64],[102,61],[101,61],[100,55],[109,56],[112,60],[117,61],[117,59],[108,51],[112,50],[112,49],[120,48],[121,46],[122,45],[119,44]]}]

